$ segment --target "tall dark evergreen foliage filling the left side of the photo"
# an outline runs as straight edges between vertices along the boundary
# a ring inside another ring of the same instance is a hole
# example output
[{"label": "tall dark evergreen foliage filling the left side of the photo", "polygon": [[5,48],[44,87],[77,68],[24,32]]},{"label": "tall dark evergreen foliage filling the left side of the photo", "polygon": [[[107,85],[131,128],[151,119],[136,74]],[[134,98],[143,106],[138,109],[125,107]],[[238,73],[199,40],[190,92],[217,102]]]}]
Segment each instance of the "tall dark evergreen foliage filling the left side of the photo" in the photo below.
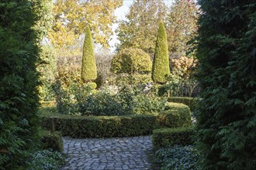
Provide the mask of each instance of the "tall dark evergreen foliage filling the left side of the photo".
[{"label": "tall dark evergreen foliage filling the left side of the photo", "polygon": [[29,0],[0,2],[0,169],[26,169],[37,142],[38,34]]}]

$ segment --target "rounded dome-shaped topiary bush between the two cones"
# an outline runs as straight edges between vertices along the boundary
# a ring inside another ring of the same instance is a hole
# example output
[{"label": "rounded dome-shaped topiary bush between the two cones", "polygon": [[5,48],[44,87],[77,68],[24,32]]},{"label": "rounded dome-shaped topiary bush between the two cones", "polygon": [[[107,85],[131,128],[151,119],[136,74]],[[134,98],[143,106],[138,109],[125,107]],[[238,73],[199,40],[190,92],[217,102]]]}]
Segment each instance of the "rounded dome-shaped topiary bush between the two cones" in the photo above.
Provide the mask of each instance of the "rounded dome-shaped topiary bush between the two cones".
[{"label": "rounded dome-shaped topiary bush between the two cones", "polygon": [[150,56],[142,49],[123,49],[111,62],[113,73],[150,73],[151,69]]}]

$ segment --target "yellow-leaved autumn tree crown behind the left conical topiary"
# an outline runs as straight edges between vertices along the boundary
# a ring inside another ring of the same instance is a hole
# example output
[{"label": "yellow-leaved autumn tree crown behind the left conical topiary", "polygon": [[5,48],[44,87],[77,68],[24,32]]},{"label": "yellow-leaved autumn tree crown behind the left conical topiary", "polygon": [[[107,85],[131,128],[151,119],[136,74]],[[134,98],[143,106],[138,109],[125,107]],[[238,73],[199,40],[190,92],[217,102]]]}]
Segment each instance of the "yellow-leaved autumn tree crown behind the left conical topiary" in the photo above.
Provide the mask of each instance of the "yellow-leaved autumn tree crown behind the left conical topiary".
[{"label": "yellow-leaved autumn tree crown behind the left conical topiary", "polygon": [[90,26],[95,39],[109,47],[115,9],[123,5],[119,0],[57,0],[54,2],[54,25],[50,41],[57,47],[70,46]]}]

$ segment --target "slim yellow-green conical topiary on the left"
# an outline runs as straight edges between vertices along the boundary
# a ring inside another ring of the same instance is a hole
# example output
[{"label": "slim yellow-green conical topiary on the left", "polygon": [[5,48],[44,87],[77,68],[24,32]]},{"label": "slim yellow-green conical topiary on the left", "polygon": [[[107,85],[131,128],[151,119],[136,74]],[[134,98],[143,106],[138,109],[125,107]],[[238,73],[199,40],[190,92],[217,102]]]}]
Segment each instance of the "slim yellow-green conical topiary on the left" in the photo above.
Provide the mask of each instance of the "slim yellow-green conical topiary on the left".
[{"label": "slim yellow-green conical topiary on the left", "polygon": [[81,80],[89,82],[97,78],[97,67],[92,44],[92,34],[89,27],[85,32],[85,43],[83,49],[83,58],[81,61]]}]

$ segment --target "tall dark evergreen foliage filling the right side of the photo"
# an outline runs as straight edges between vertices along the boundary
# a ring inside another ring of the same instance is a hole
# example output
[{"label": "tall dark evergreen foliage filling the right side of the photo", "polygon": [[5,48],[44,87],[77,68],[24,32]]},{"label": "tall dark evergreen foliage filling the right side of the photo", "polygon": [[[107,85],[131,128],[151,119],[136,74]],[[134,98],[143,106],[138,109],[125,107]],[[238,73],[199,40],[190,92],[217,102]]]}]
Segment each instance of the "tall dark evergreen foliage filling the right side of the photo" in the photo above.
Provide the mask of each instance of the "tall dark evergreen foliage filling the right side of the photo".
[{"label": "tall dark evergreen foliage filling the right side of the photo", "polygon": [[199,5],[199,165],[256,169],[256,2]]}]

